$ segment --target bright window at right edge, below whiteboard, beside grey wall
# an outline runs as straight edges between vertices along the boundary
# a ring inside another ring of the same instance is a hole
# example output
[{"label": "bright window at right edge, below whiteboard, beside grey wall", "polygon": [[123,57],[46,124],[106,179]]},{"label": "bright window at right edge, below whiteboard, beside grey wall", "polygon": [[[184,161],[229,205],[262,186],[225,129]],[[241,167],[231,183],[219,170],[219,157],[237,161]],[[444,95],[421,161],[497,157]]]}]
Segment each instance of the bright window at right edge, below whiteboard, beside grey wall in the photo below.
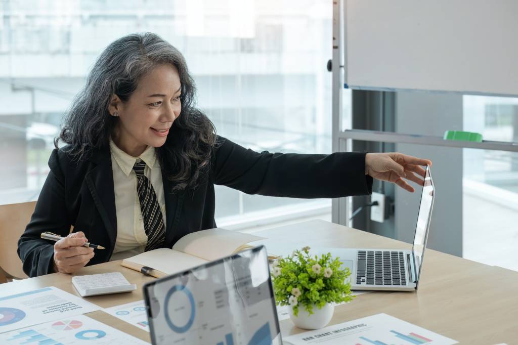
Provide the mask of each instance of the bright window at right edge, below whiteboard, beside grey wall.
[{"label": "bright window at right edge, below whiteboard, beside grey wall", "polygon": [[[518,141],[518,98],[464,96],[464,128]],[[518,153],[464,149],[463,256],[518,270]]]}]

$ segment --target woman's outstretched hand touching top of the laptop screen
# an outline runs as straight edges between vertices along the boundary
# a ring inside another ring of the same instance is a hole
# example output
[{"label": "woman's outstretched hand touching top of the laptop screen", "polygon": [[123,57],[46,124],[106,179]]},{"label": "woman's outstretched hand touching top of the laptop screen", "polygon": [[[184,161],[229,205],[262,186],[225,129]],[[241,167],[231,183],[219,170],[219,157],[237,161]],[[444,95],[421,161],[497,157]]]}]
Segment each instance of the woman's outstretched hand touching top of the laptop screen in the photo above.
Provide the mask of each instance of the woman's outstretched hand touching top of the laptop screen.
[{"label": "woman's outstretched hand touching top of the laptop screen", "polygon": [[370,175],[378,180],[393,182],[402,189],[413,193],[414,188],[403,178],[423,185],[422,178],[425,177],[425,169],[422,166],[427,164],[431,166],[431,161],[398,152],[367,153],[365,156],[365,175]]}]

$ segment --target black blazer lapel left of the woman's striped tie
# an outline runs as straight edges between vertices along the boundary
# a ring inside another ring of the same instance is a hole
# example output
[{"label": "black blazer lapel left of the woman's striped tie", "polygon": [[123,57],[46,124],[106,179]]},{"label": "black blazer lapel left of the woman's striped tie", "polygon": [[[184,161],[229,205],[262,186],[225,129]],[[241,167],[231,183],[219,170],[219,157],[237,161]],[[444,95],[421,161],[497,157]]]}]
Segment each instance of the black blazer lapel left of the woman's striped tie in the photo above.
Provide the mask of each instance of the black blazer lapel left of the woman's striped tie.
[{"label": "black blazer lapel left of the woman's striped tie", "polygon": [[94,152],[90,160],[96,163],[96,166],[87,172],[85,179],[94,199],[95,207],[108,231],[111,250],[113,250],[117,239],[117,213],[109,148]]}]

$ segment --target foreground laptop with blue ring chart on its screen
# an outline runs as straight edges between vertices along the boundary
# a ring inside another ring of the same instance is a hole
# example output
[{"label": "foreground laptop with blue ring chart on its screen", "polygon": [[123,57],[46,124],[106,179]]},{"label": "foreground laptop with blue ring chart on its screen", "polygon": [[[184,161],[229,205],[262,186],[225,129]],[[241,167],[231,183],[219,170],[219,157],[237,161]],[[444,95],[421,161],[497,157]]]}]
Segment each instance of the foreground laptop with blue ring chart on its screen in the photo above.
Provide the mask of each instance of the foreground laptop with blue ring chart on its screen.
[{"label": "foreground laptop with blue ring chart on its screen", "polygon": [[143,286],[151,341],[282,344],[264,246]]}]

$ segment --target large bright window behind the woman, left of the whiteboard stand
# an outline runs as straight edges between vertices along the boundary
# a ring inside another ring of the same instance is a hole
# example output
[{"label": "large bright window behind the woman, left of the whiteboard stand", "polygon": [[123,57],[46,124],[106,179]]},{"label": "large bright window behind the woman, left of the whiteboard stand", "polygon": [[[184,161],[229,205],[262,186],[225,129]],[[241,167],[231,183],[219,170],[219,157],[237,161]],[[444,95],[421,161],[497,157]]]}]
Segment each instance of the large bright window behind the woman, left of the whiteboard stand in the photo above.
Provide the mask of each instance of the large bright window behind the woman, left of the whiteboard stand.
[{"label": "large bright window behind the woman, left of the whiteboard stand", "polygon": [[[52,140],[89,67],[109,42],[132,32],[157,33],[182,51],[198,107],[220,135],[257,151],[331,151],[329,2],[7,0],[0,6],[0,204],[37,198]],[[216,193],[219,225],[283,208],[284,214],[330,213],[329,200],[220,187]]]}]

